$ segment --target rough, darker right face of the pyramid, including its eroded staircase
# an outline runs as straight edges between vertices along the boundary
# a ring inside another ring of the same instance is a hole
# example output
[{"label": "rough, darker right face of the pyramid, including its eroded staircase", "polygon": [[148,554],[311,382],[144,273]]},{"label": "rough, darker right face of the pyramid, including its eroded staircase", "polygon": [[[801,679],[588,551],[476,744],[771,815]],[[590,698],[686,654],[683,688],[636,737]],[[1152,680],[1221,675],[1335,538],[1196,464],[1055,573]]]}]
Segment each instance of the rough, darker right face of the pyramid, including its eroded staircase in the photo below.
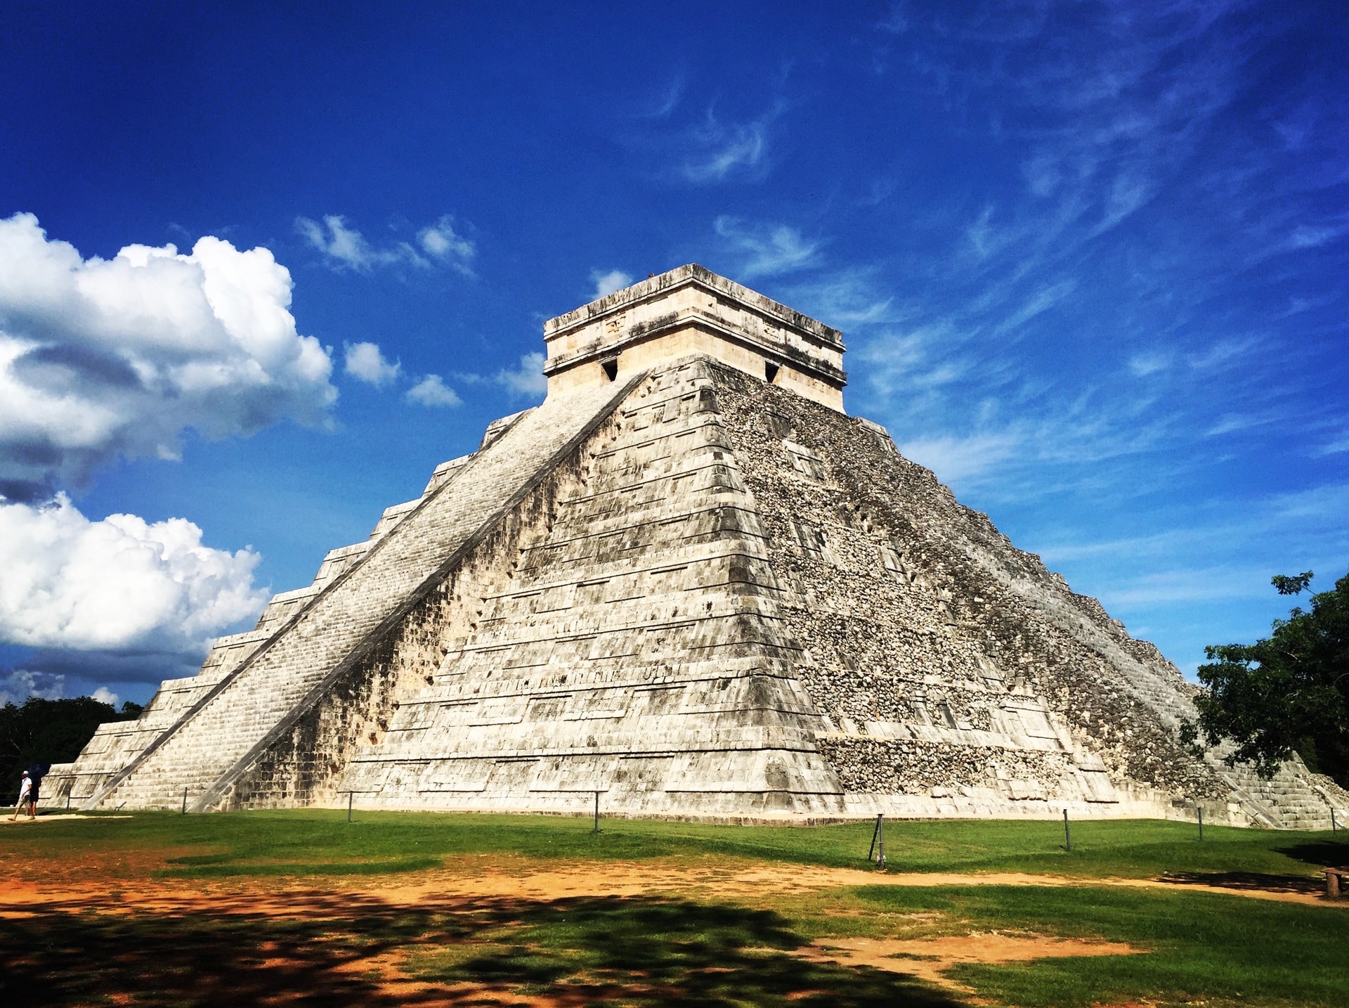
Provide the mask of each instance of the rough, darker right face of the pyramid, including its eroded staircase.
[{"label": "rough, darker right face of the pyramid, including its eroded staircase", "polygon": [[1344,818],[1349,795],[1298,760],[1261,784],[1182,746],[1195,687],[884,428],[714,371],[849,811]]}]

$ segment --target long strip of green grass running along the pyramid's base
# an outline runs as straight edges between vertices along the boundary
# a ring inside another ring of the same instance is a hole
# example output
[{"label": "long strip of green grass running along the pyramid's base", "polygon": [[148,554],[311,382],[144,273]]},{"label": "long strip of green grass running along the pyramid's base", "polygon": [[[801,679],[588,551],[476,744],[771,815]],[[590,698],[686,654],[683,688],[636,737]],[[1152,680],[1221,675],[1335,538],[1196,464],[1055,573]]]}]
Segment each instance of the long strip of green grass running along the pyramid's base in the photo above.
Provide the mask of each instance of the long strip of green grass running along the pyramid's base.
[{"label": "long strip of green grass running along the pyramid's base", "polygon": [[[229,815],[142,812],[130,818],[59,820],[0,834],[0,858],[61,858],[90,851],[162,849],[210,861],[177,858],[179,876],[331,874],[335,865],[380,862],[407,872],[426,860],[464,854],[509,854],[529,860],[691,858],[727,856],[827,866],[866,866],[870,823],[822,827],[755,827],[610,819],[599,834],[587,819],[511,815],[362,812],[344,810],[256,811]],[[1151,877],[1248,873],[1260,877],[1317,874],[1322,865],[1349,862],[1349,845],[1331,834],[1209,827],[1203,842],[1186,823],[1157,820],[1082,822],[1072,850],[1063,849],[1055,822],[947,820],[886,824],[892,872],[1028,872],[1079,877]],[[208,870],[209,869],[209,870]]]}]

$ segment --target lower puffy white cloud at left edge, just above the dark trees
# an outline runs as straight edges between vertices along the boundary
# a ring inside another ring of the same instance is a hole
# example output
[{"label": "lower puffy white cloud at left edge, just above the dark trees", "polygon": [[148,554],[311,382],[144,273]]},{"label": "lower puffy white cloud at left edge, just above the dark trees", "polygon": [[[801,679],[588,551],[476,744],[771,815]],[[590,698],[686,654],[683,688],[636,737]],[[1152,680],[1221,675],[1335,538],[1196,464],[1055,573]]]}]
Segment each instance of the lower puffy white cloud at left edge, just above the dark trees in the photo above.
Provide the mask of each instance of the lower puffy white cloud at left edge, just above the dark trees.
[{"label": "lower puffy white cloud at left edge, just above the dark trees", "polygon": [[252,584],[260,559],[202,545],[183,518],[89,521],[63,494],[40,506],[0,502],[0,640],[200,653],[267,603]]}]

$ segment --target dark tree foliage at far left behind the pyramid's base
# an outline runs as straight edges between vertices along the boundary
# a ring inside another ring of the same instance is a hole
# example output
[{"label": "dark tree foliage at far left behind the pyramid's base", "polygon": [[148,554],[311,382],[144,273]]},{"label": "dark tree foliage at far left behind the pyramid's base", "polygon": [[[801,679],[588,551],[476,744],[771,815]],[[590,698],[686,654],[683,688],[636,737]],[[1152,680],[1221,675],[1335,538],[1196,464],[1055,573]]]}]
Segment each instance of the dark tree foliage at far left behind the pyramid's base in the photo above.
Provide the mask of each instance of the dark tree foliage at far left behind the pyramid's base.
[{"label": "dark tree foliage at far left behind the pyramid's base", "polygon": [[19,777],[35,762],[69,762],[105,721],[131,721],[140,704],[130,700],[121,712],[92,696],[45,700],[30,696],[23,706],[0,707],[0,796],[12,802]]}]

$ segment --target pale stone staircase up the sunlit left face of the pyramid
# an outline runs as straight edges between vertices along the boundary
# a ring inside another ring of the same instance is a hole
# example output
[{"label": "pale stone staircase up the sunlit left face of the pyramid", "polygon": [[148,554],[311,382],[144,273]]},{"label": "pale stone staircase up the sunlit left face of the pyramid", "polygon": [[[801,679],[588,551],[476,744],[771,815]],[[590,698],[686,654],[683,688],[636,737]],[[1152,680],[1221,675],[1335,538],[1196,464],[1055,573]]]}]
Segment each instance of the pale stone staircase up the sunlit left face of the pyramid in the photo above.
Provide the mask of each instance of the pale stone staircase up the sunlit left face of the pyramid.
[{"label": "pale stone staircase up the sunlit left face of the pyramid", "polygon": [[[606,416],[635,381],[577,391],[517,414],[509,425],[494,425],[476,455],[457,466],[448,463],[441,467],[445,472],[437,470],[420,503],[390,509],[398,514],[386,517],[397,524],[378,541],[363,549],[335,551],[349,551],[349,557],[329,555],[335,565],[348,561],[345,568],[287,613],[236,668],[213,684],[204,683],[205,690],[194,690],[185,710],[175,704],[182,712],[165,727],[155,725],[152,741],[139,752],[127,750],[131,758],[124,765],[109,772],[109,761],[103,760],[103,780],[82,807],[178,808],[183,789],[189,807],[216,807],[228,788],[227,779],[241,772],[268,733],[325,676],[353,660],[401,603],[484,525],[496,521],[503,503]],[[324,580],[331,571],[321,568],[320,573]],[[266,613],[259,625],[264,621]]]}]

